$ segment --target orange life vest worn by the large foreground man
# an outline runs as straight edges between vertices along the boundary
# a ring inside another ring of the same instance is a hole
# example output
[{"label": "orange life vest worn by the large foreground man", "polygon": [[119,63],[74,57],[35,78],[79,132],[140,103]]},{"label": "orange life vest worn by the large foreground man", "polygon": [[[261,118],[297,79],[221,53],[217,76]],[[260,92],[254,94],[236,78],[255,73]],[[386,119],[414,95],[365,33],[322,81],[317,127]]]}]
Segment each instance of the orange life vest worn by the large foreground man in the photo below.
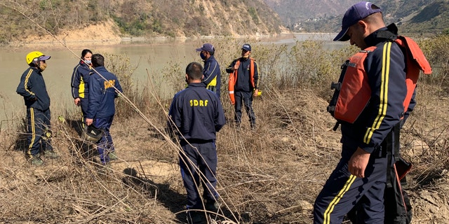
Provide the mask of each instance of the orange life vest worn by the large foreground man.
[{"label": "orange life vest worn by the large foreground man", "polygon": [[[430,74],[431,66],[427,62],[422,50],[415,41],[406,36],[398,36],[395,42],[405,49],[406,57],[406,85],[407,95],[403,101],[404,112],[407,111],[410,99],[415,92],[420,70]],[[371,97],[371,88],[368,84],[368,74],[363,62],[375,46],[357,52],[343,64],[339,83],[333,83],[335,89],[333,99],[328,106],[328,112],[337,120],[354,123],[365,109]]]}]

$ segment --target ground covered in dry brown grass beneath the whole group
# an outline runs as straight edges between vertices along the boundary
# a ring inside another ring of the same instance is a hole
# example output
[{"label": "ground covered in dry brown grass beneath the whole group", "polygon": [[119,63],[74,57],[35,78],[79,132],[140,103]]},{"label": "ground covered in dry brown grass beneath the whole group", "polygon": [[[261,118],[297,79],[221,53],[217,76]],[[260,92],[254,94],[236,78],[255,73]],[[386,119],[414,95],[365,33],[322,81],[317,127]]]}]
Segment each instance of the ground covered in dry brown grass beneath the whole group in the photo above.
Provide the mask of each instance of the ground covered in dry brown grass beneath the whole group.
[{"label": "ground covered in dry brown grass beneath the whole group", "polygon": [[[449,105],[438,92],[418,102],[402,136],[403,154],[414,164],[413,223],[447,223]],[[232,121],[233,109],[224,105]],[[315,197],[340,159],[340,132],[332,130],[327,102],[310,90],[289,90],[264,92],[254,106],[255,132],[243,116],[241,132],[230,122],[217,135],[221,209],[211,220],[311,223]],[[117,116],[119,160],[106,169],[79,139],[76,119],[54,121],[61,158],[43,157],[42,167],[25,160],[20,133],[1,132],[0,223],[185,223],[178,148],[163,131],[163,114],[147,113],[151,125]]]}]

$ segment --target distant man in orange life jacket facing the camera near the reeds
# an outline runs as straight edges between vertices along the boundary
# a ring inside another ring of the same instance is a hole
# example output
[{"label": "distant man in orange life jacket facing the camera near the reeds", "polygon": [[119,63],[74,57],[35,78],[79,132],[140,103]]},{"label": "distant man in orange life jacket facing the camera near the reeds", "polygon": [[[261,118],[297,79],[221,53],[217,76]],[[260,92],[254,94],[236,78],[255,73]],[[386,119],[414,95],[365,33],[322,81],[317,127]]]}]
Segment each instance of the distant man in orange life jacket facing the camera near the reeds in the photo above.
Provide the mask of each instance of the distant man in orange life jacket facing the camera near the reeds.
[{"label": "distant man in orange life jacket facing the camera near the reeds", "polygon": [[241,127],[242,102],[250,118],[251,129],[255,130],[253,97],[257,97],[259,91],[259,86],[257,85],[259,68],[255,59],[250,57],[250,54],[251,45],[248,43],[243,44],[241,57],[234,59],[226,69],[226,72],[229,73],[229,97],[235,109],[234,121],[237,130],[240,130]]}]

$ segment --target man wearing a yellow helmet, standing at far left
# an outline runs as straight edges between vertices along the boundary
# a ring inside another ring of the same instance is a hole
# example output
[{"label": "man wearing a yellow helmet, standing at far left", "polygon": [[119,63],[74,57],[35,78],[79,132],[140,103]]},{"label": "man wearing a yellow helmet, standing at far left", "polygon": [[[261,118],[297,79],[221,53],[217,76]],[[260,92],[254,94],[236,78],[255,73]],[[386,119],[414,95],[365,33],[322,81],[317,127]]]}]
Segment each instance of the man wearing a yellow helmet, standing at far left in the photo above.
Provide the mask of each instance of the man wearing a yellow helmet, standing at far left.
[{"label": "man wearing a yellow helmet, standing at far left", "polygon": [[25,100],[27,106],[27,149],[26,158],[32,165],[43,165],[40,155],[42,146],[43,153],[48,158],[58,158],[58,154],[51,146],[50,129],[50,97],[43,80],[42,71],[46,69],[46,60],[50,56],[42,52],[33,51],[25,58],[29,68],[25,70],[20,78],[16,92]]}]

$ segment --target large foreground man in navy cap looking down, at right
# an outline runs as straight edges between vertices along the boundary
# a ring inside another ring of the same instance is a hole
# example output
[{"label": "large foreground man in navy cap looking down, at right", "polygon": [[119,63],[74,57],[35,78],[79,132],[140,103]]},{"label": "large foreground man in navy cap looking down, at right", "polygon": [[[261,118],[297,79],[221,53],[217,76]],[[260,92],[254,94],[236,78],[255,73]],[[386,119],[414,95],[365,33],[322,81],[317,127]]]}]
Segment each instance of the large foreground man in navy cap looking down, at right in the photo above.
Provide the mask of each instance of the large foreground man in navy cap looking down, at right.
[{"label": "large foreground man in navy cap looking down, at right", "polygon": [[[366,74],[369,90],[367,86],[361,89],[367,90],[368,102],[352,123],[340,123],[342,158],[315,200],[315,224],[342,223],[353,208],[356,223],[384,223],[384,189],[391,167],[388,151],[398,144],[395,134],[407,94],[405,57],[394,42],[396,37],[396,26],[386,27],[381,8],[373,3],[361,1],[344,14],[342,30],[334,41],[349,41],[361,50],[371,47],[354,55],[365,54],[363,61],[351,63],[355,57],[349,58],[344,71],[345,78],[358,76],[359,71]],[[349,92],[340,88],[339,97],[344,91]],[[345,100],[351,99],[341,99],[343,105]]]}]

